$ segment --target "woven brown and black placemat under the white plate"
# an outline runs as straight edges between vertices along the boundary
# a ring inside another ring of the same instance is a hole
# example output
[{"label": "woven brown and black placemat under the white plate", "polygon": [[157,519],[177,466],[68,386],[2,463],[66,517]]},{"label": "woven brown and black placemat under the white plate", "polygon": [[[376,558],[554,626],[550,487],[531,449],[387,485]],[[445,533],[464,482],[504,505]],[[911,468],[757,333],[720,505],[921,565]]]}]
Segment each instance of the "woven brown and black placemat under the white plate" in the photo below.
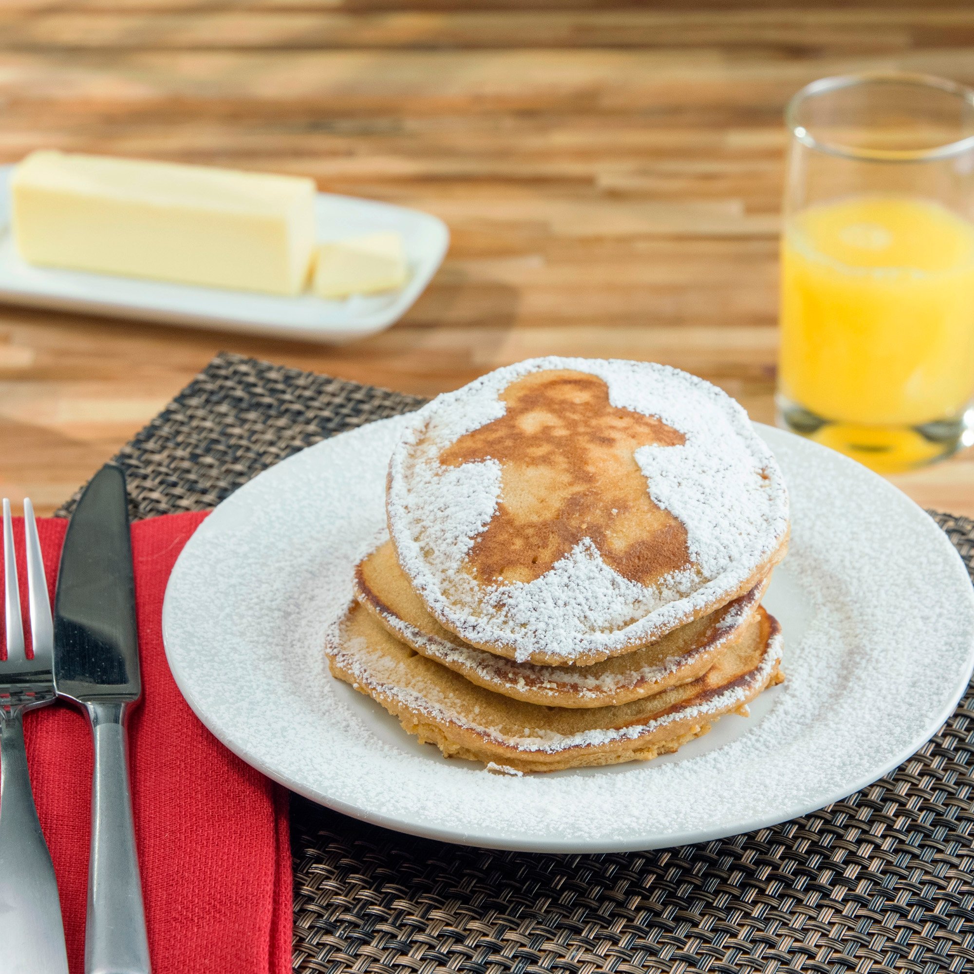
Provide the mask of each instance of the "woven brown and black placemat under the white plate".
[{"label": "woven brown and black placemat under the white plate", "polygon": [[[222,355],[119,455],[133,516],[213,506],[415,396]],[[67,513],[70,504],[61,513]],[[974,521],[934,514],[968,568]],[[651,852],[434,843],[292,800],[296,971],[974,970],[974,695],[913,758],[783,825]]]}]

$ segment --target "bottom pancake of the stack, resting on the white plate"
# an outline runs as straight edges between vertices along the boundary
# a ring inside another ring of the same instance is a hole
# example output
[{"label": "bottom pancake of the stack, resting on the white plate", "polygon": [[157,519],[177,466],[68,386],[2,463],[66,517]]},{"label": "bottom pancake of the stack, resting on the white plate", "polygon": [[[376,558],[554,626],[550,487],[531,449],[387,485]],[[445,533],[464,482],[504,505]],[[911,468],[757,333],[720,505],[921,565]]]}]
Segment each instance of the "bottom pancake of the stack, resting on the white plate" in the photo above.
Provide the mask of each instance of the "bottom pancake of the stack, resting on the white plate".
[{"label": "bottom pancake of the stack, resting on the white plate", "polygon": [[691,683],[620,706],[570,710],[471,684],[394,639],[354,603],[325,644],[331,672],[371,696],[446,757],[543,771],[646,761],[709,730],[781,679],[777,622],[754,613],[743,638]]}]

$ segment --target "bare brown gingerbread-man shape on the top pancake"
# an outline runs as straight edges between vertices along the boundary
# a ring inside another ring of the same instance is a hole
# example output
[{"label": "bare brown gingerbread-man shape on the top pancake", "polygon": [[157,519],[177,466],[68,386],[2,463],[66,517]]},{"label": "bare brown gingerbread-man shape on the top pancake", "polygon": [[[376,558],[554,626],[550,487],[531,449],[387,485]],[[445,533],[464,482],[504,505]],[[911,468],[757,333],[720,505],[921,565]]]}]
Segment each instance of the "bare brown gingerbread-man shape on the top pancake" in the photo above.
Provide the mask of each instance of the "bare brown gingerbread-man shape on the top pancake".
[{"label": "bare brown gingerbread-man shape on the top pancake", "polygon": [[586,539],[644,585],[690,562],[687,529],[653,502],[634,456],[682,445],[682,432],[613,406],[605,382],[586,372],[534,372],[501,398],[504,416],[439,456],[447,467],[501,465],[501,500],[468,552],[469,575],[485,585],[534,581]]}]

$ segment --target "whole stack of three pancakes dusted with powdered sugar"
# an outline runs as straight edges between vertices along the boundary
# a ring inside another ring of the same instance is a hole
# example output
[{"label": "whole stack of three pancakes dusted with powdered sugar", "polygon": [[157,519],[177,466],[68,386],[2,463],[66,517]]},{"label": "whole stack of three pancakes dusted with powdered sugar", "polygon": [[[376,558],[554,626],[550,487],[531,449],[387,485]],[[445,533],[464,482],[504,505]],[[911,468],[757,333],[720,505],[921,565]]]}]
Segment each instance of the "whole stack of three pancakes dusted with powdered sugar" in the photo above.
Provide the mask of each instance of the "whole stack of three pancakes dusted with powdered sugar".
[{"label": "whole stack of three pancakes dusted with powdered sugar", "polygon": [[448,757],[647,760],[782,679],[761,606],[781,472],[685,372],[548,357],[438,396],[393,451],[387,512],[329,665]]}]

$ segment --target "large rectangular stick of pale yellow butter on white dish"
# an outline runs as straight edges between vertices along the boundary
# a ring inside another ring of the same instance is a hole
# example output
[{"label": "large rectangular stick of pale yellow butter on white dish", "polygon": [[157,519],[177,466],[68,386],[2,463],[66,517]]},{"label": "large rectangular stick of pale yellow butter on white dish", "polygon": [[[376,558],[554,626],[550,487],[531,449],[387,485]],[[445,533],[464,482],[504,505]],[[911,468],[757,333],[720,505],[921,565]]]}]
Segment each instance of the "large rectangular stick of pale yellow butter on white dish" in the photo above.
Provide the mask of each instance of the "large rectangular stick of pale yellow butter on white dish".
[{"label": "large rectangular stick of pale yellow butter on white dish", "polygon": [[271,294],[308,281],[312,179],[41,151],[11,189],[31,264]]}]

